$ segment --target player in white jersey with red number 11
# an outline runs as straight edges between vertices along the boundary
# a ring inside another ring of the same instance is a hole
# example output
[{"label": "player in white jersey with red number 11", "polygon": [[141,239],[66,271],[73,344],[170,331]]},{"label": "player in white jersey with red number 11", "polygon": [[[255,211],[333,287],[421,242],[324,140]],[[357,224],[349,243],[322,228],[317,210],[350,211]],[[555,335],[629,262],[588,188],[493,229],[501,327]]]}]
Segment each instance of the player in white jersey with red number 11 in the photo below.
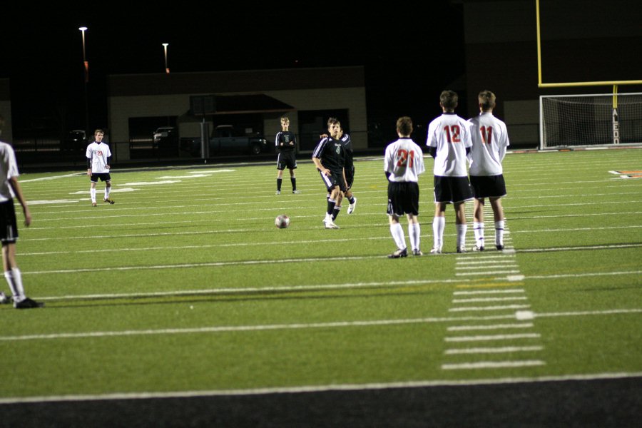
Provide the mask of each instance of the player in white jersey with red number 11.
[{"label": "player in white jersey with red number 11", "polygon": [[501,161],[509,146],[506,123],[493,116],[495,94],[481,91],[479,96],[479,116],[469,119],[472,124],[472,149],[470,159],[470,184],[475,195],[473,230],[475,246],[473,250],[484,250],[484,200],[488,198],[495,220],[495,246],[504,249],[504,209],[501,197],[506,195],[504,170]]}]

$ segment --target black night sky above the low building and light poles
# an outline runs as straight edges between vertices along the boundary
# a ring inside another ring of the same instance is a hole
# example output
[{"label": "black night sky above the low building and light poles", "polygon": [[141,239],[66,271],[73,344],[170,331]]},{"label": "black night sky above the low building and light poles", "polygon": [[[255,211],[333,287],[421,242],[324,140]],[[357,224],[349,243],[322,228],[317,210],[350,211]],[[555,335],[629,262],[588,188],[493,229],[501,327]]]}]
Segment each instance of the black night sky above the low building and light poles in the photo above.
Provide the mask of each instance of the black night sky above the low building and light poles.
[{"label": "black night sky above the low building and light poles", "polygon": [[402,4],[366,11],[221,3],[5,15],[0,78],[11,79],[14,136],[33,126],[84,127],[79,26],[88,27],[90,128],[107,126],[106,76],[163,73],[163,43],[173,73],[365,66],[370,121],[409,115],[427,123],[440,113],[439,92],[464,73],[462,5],[449,1],[425,2],[422,12]]}]

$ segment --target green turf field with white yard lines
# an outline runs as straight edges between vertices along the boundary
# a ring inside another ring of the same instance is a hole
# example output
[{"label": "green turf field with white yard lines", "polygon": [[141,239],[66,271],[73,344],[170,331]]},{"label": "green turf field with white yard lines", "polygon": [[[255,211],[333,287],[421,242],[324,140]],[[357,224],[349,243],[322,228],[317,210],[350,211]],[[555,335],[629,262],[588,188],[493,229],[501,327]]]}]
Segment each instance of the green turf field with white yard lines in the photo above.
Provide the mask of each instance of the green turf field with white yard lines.
[{"label": "green turf field with white yard lines", "polygon": [[611,171],[642,150],[511,153],[504,252],[487,211],[487,250],[455,253],[449,207],[445,253],[399,260],[382,158],[356,163],[357,209],[325,230],[299,157],[299,195],[287,171],[274,194],[272,163],[116,168],[96,208],[82,173],[21,175],[18,262],[46,307],[0,307],[1,402],[641,376],[642,178]]}]

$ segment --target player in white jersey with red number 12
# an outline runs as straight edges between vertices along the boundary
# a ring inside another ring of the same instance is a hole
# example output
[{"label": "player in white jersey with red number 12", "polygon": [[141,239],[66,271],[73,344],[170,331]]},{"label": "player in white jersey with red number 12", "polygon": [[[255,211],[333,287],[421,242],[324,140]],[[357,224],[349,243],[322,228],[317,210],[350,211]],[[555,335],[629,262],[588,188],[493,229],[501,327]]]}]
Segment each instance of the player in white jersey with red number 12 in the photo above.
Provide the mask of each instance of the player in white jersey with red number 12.
[{"label": "player in white jersey with red number 12", "polygon": [[466,213],[464,202],[472,199],[472,190],[466,168],[467,154],[472,146],[470,123],[454,113],[459,100],[454,91],[443,91],[439,105],[443,114],[428,125],[426,146],[434,158],[434,247],[432,254],[442,253],[444,228],[446,226],[446,205],[452,203],[457,225],[457,253],[465,253]]}]

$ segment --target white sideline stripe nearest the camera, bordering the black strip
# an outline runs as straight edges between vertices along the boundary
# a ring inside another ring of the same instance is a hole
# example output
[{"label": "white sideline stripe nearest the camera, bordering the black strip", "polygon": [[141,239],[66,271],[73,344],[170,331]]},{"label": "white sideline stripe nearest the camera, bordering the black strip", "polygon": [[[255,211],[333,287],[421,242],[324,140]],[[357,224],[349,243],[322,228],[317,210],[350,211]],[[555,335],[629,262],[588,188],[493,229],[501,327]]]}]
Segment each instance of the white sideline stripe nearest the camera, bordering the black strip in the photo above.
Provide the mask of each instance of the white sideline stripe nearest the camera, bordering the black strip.
[{"label": "white sideline stripe nearest the camera, bordering the black strip", "polygon": [[70,401],[97,401],[116,399],[153,399],[153,398],[190,398],[190,397],[223,397],[246,396],[267,394],[300,394],[306,392],[332,392],[332,391],[365,391],[372,389],[393,388],[430,388],[430,387],[467,387],[475,385],[519,384],[538,382],[569,382],[593,381],[602,379],[631,379],[642,378],[642,372],[614,372],[614,373],[587,373],[572,374],[567,376],[539,376],[539,377],[502,377],[499,379],[434,379],[411,380],[407,382],[382,382],[365,384],[327,384],[303,385],[300,387],[272,387],[248,389],[208,389],[200,391],[172,391],[172,392],[121,392],[113,394],[93,395],[49,395],[35,397],[7,397],[1,398],[0,404],[38,403],[38,402],[70,402]]}]

